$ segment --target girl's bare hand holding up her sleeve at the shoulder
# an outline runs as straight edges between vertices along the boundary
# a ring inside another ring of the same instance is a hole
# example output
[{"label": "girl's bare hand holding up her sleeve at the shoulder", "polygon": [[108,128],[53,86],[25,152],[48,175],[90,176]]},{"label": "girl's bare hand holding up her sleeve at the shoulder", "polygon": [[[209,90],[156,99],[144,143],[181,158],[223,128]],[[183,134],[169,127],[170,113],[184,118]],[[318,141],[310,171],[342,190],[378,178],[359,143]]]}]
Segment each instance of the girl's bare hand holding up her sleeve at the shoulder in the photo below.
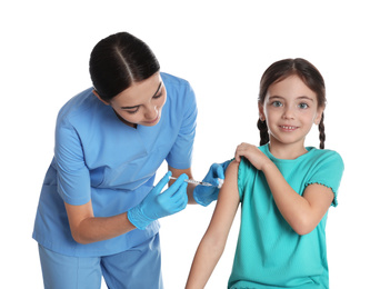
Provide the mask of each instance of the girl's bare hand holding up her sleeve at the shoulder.
[{"label": "girl's bare hand holding up her sleeve at the shoulder", "polygon": [[258,170],[262,170],[266,165],[271,163],[271,160],[258,147],[246,142],[239,144],[234,152],[234,158],[238,162],[240,162],[241,157],[248,159]]}]

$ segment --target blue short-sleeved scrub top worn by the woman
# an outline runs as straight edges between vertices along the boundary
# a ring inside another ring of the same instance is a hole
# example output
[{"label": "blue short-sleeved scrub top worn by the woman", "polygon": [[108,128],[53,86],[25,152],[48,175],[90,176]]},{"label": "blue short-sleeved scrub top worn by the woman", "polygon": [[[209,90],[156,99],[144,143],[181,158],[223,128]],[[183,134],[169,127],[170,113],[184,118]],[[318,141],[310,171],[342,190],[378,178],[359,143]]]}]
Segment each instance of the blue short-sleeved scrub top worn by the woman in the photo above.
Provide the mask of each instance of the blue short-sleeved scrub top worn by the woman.
[{"label": "blue short-sleeved scrub top worn by the woman", "polygon": [[[77,257],[118,253],[156,235],[159,222],[110,240],[80,245],[71,236],[64,202],[91,200],[96,217],[109,217],[137,206],[151,190],[163,160],[176,169],[191,167],[197,103],[190,84],[161,73],[167,102],[153,127],[131,128],[92,88],[69,100],[56,126],[54,157],[46,175],[33,238],[47,249]],[[127,216],[126,216],[127,218]]]}]

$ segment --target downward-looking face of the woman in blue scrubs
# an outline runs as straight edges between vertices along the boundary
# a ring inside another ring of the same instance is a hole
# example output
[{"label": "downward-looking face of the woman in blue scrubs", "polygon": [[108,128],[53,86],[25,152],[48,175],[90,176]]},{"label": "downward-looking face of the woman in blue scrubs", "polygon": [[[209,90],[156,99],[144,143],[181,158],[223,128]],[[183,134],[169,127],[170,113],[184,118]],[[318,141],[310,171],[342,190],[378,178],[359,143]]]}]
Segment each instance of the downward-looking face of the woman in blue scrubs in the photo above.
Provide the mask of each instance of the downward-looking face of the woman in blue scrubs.
[{"label": "downward-looking face of the woman in blue scrubs", "polygon": [[167,90],[160,73],[157,72],[143,81],[133,83],[110,102],[103,102],[110,104],[126,124],[136,128],[137,124],[156,126],[160,121],[166,101]]}]

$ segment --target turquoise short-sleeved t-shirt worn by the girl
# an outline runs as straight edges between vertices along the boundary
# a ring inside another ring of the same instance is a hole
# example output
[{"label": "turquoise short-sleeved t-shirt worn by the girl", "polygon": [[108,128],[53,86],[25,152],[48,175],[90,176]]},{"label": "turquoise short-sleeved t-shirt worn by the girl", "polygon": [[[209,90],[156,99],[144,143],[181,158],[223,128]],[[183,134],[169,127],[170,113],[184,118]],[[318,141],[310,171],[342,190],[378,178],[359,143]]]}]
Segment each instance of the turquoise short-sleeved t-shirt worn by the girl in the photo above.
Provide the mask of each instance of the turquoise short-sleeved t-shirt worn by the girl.
[{"label": "turquoise short-sleeved t-shirt worn by the girl", "polygon": [[[311,183],[337,193],[343,173],[338,152],[307,148],[294,160],[274,158],[269,146],[260,147],[299,195]],[[326,247],[327,215],[317,228],[300,236],[278,210],[262,171],[247,159],[239,166],[238,187],[241,201],[241,225],[228,288],[329,288]]]}]

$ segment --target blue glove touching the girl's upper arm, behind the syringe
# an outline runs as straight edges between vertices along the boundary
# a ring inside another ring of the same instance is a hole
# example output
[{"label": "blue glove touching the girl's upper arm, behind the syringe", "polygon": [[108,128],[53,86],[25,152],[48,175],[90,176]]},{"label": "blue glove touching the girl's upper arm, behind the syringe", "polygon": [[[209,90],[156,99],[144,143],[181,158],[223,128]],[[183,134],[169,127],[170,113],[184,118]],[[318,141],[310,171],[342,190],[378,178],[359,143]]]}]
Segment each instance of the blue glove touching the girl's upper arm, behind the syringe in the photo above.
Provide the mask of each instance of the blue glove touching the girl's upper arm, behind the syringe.
[{"label": "blue glove touching the girl's upper arm, behind the syringe", "polygon": [[204,207],[209,206],[212,201],[218,199],[219,180],[224,180],[224,172],[231,160],[224,161],[223,163],[213,163],[210,167],[209,172],[206,175],[203,181],[209,182],[216,187],[197,186],[193,191],[194,200]]}]

